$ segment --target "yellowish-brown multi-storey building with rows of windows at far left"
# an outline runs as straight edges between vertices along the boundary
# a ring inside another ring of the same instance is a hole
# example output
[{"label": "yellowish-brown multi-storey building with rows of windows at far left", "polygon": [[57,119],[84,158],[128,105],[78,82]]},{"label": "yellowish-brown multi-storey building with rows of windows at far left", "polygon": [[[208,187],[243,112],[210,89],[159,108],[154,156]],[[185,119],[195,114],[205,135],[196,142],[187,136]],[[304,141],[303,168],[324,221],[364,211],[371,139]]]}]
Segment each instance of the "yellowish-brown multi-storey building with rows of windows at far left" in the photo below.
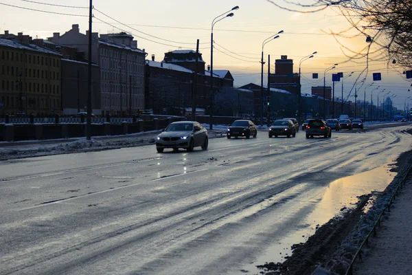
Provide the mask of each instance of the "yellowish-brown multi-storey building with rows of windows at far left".
[{"label": "yellowish-brown multi-storey building with rows of windows at far left", "polygon": [[0,113],[62,113],[61,58],[21,32],[0,34]]}]

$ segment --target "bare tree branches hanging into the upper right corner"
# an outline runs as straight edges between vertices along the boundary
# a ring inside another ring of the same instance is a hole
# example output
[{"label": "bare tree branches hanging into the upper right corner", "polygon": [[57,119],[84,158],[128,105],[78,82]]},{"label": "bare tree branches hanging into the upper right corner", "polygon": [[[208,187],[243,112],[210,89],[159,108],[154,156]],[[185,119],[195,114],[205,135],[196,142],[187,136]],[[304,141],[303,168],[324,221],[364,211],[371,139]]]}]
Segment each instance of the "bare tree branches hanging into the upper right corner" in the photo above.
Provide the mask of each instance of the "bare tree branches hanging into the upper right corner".
[{"label": "bare tree branches hanging into the upper right corner", "polygon": [[[352,28],[365,35],[371,44],[364,51],[349,50],[352,60],[385,60],[404,68],[412,67],[412,0],[313,0],[308,4],[293,0],[266,0],[278,8],[294,12],[319,12],[326,8],[339,10]],[[344,32],[334,33],[339,36]],[[371,45],[376,45],[371,50]]]}]

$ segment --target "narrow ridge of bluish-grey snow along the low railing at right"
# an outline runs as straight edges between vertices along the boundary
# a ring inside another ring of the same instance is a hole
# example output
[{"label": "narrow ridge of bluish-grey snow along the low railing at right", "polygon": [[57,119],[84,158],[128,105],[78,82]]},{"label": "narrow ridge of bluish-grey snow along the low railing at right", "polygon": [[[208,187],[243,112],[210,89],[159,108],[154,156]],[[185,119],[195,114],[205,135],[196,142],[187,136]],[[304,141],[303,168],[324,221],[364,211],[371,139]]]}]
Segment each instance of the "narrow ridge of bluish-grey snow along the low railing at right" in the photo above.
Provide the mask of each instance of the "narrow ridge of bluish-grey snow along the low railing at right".
[{"label": "narrow ridge of bluish-grey snow along the low railing at right", "polygon": [[[407,170],[411,166],[412,159],[409,157],[407,164],[400,168],[398,175],[393,179],[391,184],[385,188],[385,190],[378,195],[373,206],[369,208],[367,213],[363,215],[361,221],[358,222],[356,227],[347,235],[345,240],[341,243],[339,248],[336,249],[332,258],[325,264],[325,267],[319,267],[312,274],[345,274],[350,267],[350,263],[358,249],[361,247],[363,241],[367,238],[367,235],[374,228],[374,224],[378,221],[378,218],[383,210],[391,202],[392,195],[396,192],[400,182]],[[326,273],[325,273],[326,272]]]}]

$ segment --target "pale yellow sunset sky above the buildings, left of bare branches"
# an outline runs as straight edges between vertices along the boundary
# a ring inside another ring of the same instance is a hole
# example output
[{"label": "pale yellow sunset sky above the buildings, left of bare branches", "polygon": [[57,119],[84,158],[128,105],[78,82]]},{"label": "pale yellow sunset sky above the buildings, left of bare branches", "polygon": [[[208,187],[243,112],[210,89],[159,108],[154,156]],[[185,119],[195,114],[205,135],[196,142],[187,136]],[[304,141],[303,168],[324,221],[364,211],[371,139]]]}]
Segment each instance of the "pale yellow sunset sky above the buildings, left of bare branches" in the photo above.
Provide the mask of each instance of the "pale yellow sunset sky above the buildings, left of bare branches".
[{"label": "pale yellow sunset sky above the buildings, left of bare branches", "polygon": [[[278,2],[284,3],[276,3]],[[308,0],[304,0],[305,2]],[[87,0],[0,0],[0,33],[9,30],[13,34],[23,32],[33,38],[45,39],[52,36],[53,32],[64,34],[76,23],[80,25],[80,32],[85,33],[89,28],[88,5]],[[170,50],[196,50],[196,39],[199,39],[200,51],[206,65],[210,63],[211,21],[238,5],[240,8],[233,12],[233,17],[225,18],[214,26],[214,69],[229,69],[235,78],[236,87],[251,82],[260,85],[262,42],[284,30],[279,39],[264,45],[264,58],[266,60],[268,54],[271,55],[273,69],[275,59],[287,55],[294,60],[294,71],[299,72],[301,58],[317,51],[314,58],[301,65],[303,93],[310,93],[313,85],[323,85],[324,70],[334,63],[339,63],[330,73],[343,72],[344,76],[348,76],[350,72],[354,72],[352,77],[345,79],[345,96],[356,78],[359,78],[360,82],[366,77],[365,85],[359,85],[358,89],[359,98],[363,100],[365,88],[373,82],[372,73],[380,72],[382,80],[366,90],[367,101],[370,101],[371,91],[374,91],[374,104],[378,92],[382,102],[383,96],[391,91],[389,96],[397,95],[391,96],[396,107],[403,109],[409,100],[412,107],[412,93],[408,91],[412,89],[411,81],[404,79],[403,68],[396,67],[392,62],[388,64],[385,61],[369,61],[369,73],[361,75],[366,68],[366,58],[354,62],[345,54],[352,55],[350,51],[361,52],[367,46],[365,36],[356,36],[354,30],[345,33],[346,36],[352,36],[351,38],[336,38],[328,34],[350,28],[338,10],[289,12],[266,0],[94,0],[93,5],[93,32],[104,34],[125,31],[133,34],[138,47],[148,52],[148,58],[155,54],[157,61],[163,60],[164,53]],[[72,8],[73,6],[78,8]],[[349,50],[345,50],[345,47]],[[267,68],[266,63],[264,85]],[[312,73],[319,73],[319,79],[312,79]],[[326,85],[332,85],[330,74],[326,75]],[[383,89],[385,91],[381,92]],[[335,93],[341,95],[341,83],[335,84]],[[354,100],[354,91],[351,95],[350,99]]]}]

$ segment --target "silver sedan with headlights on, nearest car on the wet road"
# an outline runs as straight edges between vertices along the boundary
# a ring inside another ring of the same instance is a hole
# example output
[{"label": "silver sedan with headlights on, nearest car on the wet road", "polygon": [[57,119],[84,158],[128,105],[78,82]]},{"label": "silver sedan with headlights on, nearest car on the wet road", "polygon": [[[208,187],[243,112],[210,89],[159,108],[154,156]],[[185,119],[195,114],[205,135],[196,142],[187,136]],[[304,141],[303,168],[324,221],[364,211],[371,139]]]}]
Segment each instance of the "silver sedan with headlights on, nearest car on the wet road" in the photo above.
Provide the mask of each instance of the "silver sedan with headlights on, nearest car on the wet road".
[{"label": "silver sedan with headlights on, nearest car on the wet road", "polygon": [[184,148],[192,152],[194,147],[201,146],[202,150],[207,150],[208,144],[207,130],[195,121],[172,122],[156,137],[159,153],[165,148],[173,148],[174,151]]}]

